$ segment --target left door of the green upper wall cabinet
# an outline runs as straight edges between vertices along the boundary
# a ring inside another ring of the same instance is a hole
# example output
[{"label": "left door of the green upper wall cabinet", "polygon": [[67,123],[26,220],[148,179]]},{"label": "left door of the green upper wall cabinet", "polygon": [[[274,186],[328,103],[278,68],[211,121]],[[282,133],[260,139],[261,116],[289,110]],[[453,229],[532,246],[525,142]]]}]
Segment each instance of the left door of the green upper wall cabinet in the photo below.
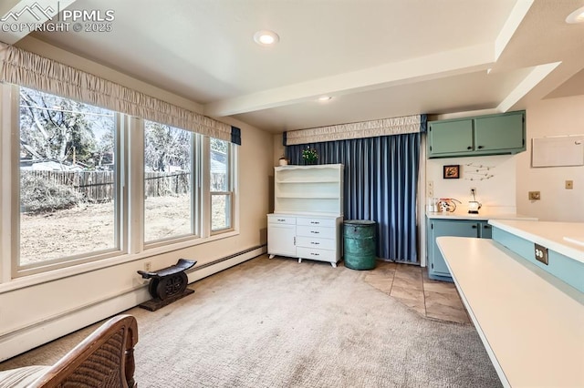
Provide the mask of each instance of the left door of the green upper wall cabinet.
[{"label": "left door of the green upper wall cabinet", "polygon": [[430,155],[455,154],[473,150],[473,120],[434,122],[428,129]]}]

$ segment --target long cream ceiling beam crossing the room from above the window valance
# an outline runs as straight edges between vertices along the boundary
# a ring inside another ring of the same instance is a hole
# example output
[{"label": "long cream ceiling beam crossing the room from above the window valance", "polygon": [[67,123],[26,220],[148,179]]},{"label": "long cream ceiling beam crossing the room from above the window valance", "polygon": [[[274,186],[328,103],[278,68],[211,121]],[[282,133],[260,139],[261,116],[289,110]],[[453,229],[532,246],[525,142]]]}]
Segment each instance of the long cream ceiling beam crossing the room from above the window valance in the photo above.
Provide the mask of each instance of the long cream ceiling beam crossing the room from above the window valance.
[{"label": "long cream ceiling beam crossing the room from above the window valance", "polygon": [[431,56],[422,56],[214,101],[204,106],[204,114],[211,117],[231,116],[271,107],[284,107],[313,100],[323,95],[335,97],[381,87],[466,74],[481,69],[486,70],[495,62],[494,53],[493,44],[464,47]]}]

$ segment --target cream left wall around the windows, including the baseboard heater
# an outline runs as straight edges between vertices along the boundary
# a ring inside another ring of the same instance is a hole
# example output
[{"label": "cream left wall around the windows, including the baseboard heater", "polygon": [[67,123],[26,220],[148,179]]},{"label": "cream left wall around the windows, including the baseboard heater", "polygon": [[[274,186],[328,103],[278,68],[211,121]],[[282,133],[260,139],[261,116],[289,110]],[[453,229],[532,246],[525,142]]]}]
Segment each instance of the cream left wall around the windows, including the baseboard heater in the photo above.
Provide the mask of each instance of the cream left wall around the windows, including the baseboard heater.
[{"label": "cream left wall around the windows, including the baseboard heater", "polygon": [[[83,58],[37,41],[32,43],[27,49],[35,48],[39,54],[50,53],[61,62],[79,64],[86,71],[177,105],[193,110],[198,107],[183,97],[172,96]],[[193,271],[189,281],[195,281],[266,251],[266,213],[274,165],[273,136],[235,120],[225,121],[242,129],[242,146],[238,147],[238,234],[151,257],[127,255],[125,261],[111,260],[106,268],[87,264],[83,273],[60,279],[38,281],[46,276],[40,274],[0,284],[0,361],[149,300],[147,281],[136,272],[143,270],[146,260],[151,261],[153,269],[164,268],[180,258],[198,260],[198,267],[235,255],[233,260]],[[245,250],[251,251],[239,254]],[[189,297],[196,298],[196,295]]]}]

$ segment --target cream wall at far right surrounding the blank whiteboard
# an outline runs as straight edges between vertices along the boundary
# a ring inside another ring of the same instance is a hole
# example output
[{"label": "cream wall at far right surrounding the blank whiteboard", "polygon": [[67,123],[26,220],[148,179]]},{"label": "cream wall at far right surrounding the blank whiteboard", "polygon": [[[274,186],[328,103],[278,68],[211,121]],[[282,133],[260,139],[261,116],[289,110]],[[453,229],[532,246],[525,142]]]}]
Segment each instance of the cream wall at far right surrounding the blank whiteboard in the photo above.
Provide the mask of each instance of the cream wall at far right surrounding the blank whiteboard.
[{"label": "cream wall at far right surrounding the blank whiteboard", "polygon": [[[517,158],[517,211],[548,221],[584,222],[584,166],[531,167],[531,139],[584,135],[584,96],[544,99],[527,107],[527,152]],[[574,189],[565,189],[573,180]],[[540,191],[529,200],[528,191]]]}]

